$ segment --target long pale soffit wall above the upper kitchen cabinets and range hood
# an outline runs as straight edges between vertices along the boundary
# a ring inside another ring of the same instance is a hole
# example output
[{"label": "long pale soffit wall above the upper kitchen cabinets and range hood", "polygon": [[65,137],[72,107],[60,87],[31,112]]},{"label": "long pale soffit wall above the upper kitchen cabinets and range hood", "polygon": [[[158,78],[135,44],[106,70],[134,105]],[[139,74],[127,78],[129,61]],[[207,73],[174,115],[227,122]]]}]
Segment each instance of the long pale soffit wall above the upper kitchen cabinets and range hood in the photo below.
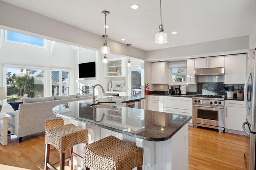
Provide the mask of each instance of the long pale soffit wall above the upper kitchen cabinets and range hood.
[{"label": "long pale soffit wall above the upper kitchen cabinets and range hood", "polygon": [[172,61],[180,61],[185,60],[186,57],[210,57],[213,54],[228,54],[227,52],[230,51],[231,54],[242,53],[247,52],[248,47],[249,37],[248,35],[246,35],[242,37],[220,39],[204,43],[196,43],[166,49],[146,51],[146,61],[159,61],[159,59],[172,59]]}]

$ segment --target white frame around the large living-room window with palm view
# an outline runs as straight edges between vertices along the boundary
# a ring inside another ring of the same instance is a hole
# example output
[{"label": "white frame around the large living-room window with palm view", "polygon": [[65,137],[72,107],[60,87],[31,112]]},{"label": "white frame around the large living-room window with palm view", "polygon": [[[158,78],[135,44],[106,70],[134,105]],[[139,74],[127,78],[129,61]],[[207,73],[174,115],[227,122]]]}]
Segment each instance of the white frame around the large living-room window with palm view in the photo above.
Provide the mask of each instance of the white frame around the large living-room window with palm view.
[{"label": "white frame around the large living-room window with palm view", "polygon": [[[47,68],[46,67],[3,64],[3,87],[5,88],[6,93],[7,93],[7,84],[6,84],[7,68],[26,68],[26,69],[44,70],[44,97],[48,97],[48,95],[47,95]],[[3,100],[3,106],[9,106],[9,104],[7,103],[7,99]]]}]

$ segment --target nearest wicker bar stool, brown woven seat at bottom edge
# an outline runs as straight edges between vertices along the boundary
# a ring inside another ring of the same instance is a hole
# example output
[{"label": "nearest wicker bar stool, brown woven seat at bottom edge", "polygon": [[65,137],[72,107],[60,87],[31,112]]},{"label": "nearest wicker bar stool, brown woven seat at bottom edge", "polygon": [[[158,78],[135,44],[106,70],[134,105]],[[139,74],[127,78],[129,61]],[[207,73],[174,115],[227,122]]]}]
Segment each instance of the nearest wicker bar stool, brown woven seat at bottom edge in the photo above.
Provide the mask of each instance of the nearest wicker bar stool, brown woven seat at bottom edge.
[{"label": "nearest wicker bar stool, brown woven seat at bottom edge", "polygon": [[142,170],[142,148],[109,136],[84,147],[84,167],[95,170]]}]

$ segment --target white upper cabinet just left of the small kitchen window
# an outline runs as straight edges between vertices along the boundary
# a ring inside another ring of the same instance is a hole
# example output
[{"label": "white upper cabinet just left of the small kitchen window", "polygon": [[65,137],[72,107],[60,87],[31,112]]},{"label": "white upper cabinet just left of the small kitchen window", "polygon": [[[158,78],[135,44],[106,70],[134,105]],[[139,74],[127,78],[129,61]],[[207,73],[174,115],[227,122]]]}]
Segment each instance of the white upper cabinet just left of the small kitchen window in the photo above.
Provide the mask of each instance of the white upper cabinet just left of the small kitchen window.
[{"label": "white upper cabinet just left of the small kitchen window", "polygon": [[168,84],[168,63],[157,62],[151,64],[152,84]]}]

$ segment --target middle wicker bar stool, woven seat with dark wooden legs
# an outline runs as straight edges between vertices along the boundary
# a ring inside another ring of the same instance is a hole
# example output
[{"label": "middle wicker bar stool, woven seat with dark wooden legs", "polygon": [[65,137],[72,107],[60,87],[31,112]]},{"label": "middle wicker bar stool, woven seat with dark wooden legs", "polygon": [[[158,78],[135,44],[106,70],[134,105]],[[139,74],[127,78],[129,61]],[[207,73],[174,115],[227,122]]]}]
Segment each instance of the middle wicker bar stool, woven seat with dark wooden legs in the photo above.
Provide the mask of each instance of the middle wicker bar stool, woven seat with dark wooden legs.
[{"label": "middle wicker bar stool, woven seat with dark wooden legs", "polygon": [[[54,164],[50,164],[50,145],[54,146],[60,152],[60,170],[64,170],[65,162],[70,161],[71,170],[73,167],[73,156],[79,156],[78,154],[73,152],[73,146],[86,143],[88,144],[88,131],[87,129],[83,129],[81,127],[77,127],[73,124],[67,124],[59,127],[53,127],[46,130],[45,133],[45,163],[44,169],[48,170],[49,168],[56,170],[53,166]],[[65,151],[69,150],[70,157],[65,159]],[[58,162],[56,162],[58,163]],[[55,164],[56,164],[55,163]]]}]

